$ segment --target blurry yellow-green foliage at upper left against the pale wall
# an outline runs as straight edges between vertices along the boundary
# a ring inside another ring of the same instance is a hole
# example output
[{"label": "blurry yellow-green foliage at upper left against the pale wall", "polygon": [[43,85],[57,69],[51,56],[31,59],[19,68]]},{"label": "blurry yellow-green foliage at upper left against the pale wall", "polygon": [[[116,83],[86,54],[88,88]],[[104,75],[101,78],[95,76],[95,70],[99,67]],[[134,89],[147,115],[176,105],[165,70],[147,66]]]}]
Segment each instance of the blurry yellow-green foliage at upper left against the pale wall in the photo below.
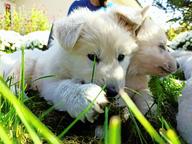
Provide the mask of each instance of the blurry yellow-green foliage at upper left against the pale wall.
[{"label": "blurry yellow-green foliage at upper left against the pale wall", "polygon": [[24,11],[6,12],[0,19],[0,29],[14,30],[20,34],[48,30],[48,18],[42,10],[32,9],[27,15]]}]

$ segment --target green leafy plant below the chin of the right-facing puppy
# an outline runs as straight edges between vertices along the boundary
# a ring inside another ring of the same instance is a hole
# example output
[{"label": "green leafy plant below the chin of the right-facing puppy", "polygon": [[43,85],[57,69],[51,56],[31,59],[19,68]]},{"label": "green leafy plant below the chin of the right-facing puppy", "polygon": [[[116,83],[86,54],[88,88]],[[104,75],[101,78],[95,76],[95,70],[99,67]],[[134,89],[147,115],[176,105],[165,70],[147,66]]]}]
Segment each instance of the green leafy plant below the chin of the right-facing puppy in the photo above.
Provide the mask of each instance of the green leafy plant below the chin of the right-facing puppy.
[{"label": "green leafy plant below the chin of the right-facing puppy", "polygon": [[167,112],[166,106],[170,104],[177,106],[178,97],[181,96],[181,91],[185,83],[175,79],[176,76],[170,75],[164,78],[152,77],[149,82],[150,90],[157,104],[158,114]]}]

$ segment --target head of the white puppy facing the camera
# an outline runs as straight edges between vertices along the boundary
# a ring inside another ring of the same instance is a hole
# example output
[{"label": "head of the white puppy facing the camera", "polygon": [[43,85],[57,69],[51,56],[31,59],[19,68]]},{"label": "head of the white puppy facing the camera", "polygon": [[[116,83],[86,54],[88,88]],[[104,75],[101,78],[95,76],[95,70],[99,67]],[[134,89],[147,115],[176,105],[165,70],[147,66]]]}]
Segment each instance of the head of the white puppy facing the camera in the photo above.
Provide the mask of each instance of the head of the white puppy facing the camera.
[{"label": "head of the white puppy facing the camera", "polygon": [[[128,22],[126,18],[121,21]],[[68,63],[65,70],[70,78],[90,83],[94,73],[93,83],[106,85],[112,95],[124,87],[125,74],[137,44],[131,33],[107,12],[77,10],[56,24],[55,34],[64,50],[64,60]]]}]

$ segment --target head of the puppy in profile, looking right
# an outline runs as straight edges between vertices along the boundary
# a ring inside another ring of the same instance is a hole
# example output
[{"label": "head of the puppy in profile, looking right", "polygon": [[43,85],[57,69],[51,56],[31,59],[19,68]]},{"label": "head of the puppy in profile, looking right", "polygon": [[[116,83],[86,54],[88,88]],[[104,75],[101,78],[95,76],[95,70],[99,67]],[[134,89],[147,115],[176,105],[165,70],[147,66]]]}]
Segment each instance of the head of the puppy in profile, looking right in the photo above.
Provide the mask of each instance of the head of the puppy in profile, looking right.
[{"label": "head of the puppy in profile, looking right", "polygon": [[128,75],[165,76],[177,70],[177,62],[166,49],[165,31],[146,17],[136,30],[139,50],[132,57]]}]

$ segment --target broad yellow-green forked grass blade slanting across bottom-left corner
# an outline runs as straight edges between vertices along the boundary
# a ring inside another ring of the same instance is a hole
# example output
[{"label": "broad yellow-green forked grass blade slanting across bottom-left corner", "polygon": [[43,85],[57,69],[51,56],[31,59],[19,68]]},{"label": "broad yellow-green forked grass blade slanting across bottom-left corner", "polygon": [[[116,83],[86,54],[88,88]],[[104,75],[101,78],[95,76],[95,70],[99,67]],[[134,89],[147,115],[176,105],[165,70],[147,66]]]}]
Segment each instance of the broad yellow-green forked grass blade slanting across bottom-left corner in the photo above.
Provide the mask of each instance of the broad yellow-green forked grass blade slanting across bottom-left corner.
[{"label": "broad yellow-green forked grass blade slanting across bottom-left corner", "polygon": [[9,90],[6,84],[3,82],[3,79],[0,78],[0,93],[16,110],[19,118],[22,120],[24,125],[27,127],[28,132],[33,140],[37,140],[39,142],[36,132],[32,129],[31,125],[36,128],[37,132],[41,133],[47,141],[50,143],[59,144],[59,139],[44,125],[40,122],[40,120],[21,102],[16,96]]}]

